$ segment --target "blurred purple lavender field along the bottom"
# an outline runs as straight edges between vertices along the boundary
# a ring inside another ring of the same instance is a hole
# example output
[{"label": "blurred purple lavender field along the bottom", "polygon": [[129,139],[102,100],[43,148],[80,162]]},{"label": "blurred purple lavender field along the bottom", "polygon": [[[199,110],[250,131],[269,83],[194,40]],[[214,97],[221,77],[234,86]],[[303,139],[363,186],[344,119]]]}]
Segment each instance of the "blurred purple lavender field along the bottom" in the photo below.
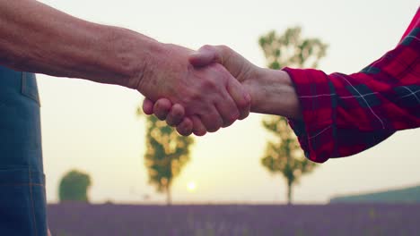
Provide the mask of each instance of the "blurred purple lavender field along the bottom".
[{"label": "blurred purple lavender field along the bottom", "polygon": [[420,235],[420,205],[48,206],[53,235]]}]

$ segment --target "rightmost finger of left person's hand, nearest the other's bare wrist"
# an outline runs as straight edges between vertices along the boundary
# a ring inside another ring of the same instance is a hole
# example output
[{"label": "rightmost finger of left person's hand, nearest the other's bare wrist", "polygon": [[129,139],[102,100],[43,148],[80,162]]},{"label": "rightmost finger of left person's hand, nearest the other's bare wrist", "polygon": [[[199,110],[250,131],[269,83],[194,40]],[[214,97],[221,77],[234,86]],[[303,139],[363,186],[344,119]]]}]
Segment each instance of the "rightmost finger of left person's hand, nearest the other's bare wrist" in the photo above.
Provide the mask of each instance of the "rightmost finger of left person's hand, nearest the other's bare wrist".
[{"label": "rightmost finger of left person's hand, nearest the other's bare wrist", "polygon": [[227,90],[240,111],[239,119],[243,120],[247,118],[251,102],[249,93],[242,87],[241,83],[234,78],[228,80]]}]

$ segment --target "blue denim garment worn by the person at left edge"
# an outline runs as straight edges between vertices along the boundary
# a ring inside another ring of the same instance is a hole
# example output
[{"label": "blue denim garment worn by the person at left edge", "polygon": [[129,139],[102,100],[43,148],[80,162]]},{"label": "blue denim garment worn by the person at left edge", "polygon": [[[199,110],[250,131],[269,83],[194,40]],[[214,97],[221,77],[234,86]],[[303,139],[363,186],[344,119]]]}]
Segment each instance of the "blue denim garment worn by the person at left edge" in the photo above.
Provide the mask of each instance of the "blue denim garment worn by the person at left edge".
[{"label": "blue denim garment worn by the person at left edge", "polygon": [[0,235],[47,235],[37,82],[1,66]]}]

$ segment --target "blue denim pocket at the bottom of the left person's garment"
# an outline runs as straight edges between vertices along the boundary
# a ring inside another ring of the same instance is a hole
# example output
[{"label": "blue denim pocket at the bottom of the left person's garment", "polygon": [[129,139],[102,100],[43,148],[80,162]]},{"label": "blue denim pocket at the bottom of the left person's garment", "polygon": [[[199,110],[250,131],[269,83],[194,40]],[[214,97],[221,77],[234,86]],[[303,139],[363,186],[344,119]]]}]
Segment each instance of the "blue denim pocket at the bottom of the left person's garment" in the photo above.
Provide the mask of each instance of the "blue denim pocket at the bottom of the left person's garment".
[{"label": "blue denim pocket at the bottom of the left person's garment", "polygon": [[29,168],[0,169],[2,235],[47,235],[45,177]]}]

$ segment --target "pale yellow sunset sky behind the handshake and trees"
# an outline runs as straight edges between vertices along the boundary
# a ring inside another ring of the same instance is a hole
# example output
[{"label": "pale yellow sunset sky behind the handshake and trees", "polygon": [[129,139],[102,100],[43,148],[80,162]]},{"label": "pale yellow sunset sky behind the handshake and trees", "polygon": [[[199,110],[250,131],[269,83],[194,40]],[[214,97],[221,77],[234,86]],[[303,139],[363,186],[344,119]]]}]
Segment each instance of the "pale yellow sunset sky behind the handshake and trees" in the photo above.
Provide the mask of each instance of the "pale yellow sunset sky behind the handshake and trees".
[{"label": "pale yellow sunset sky behind the handshake and trees", "polygon": [[[304,37],[328,43],[319,64],[325,72],[358,72],[398,43],[418,0],[144,1],[43,0],[87,21],[136,30],[164,43],[197,49],[231,46],[265,65],[258,37],[300,25]],[[93,202],[162,201],[147,183],[143,97],[135,90],[38,75],[44,165],[49,202],[71,169],[92,177]],[[285,185],[260,164],[270,136],[260,114],[204,138],[196,138],[191,162],[173,185],[178,203],[284,203]],[[337,194],[420,184],[420,130],[401,131],[363,154],[329,160],[302,178],[299,203],[326,203]]]}]

